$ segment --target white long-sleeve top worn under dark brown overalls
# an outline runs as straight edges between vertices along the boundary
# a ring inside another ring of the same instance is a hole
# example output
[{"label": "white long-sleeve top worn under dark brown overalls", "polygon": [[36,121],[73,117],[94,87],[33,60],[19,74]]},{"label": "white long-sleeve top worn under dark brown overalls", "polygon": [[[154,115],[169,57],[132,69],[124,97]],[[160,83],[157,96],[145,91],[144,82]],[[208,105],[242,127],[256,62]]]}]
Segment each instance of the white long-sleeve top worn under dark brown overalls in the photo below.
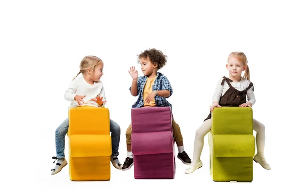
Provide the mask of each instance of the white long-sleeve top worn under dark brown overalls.
[{"label": "white long-sleeve top worn under dark brown overalls", "polygon": [[[226,76],[226,78],[229,78],[229,76]],[[226,81],[224,81],[224,84],[221,85],[223,78],[221,78],[218,81],[218,84],[216,86],[213,98],[212,98],[212,103],[214,101],[219,102],[220,97],[223,96],[225,94],[225,92],[229,89],[229,85]],[[230,82],[231,85],[237,89],[238,91],[243,91],[245,90],[248,85],[250,84],[251,81],[249,81],[246,78],[241,77],[241,80],[239,82]],[[254,106],[254,104],[256,103],[256,97],[253,91],[253,87],[251,87],[248,91],[247,91],[247,102],[252,103],[252,105]]]}]

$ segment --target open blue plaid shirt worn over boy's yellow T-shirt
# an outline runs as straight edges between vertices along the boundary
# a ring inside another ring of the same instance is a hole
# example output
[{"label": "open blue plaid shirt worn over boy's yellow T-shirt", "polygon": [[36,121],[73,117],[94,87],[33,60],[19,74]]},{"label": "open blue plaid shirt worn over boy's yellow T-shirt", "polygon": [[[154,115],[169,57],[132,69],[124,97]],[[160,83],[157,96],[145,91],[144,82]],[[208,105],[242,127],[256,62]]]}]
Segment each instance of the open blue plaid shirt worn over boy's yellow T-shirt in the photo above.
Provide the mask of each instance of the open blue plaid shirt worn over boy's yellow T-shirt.
[{"label": "open blue plaid shirt worn over boy's yellow T-shirt", "polygon": [[[143,107],[144,99],[143,99],[143,90],[147,81],[147,76],[140,76],[137,81],[138,88],[138,100],[132,105],[132,108]],[[131,87],[129,88],[131,92]],[[168,90],[170,92],[170,96],[172,95],[172,87],[167,78],[160,72],[157,72],[157,78],[154,81],[154,85],[152,91],[154,90]],[[170,97],[169,96],[169,97]],[[168,98],[168,97],[166,97]],[[170,106],[172,105],[165,99],[165,97],[155,96],[155,104],[156,106]]]}]

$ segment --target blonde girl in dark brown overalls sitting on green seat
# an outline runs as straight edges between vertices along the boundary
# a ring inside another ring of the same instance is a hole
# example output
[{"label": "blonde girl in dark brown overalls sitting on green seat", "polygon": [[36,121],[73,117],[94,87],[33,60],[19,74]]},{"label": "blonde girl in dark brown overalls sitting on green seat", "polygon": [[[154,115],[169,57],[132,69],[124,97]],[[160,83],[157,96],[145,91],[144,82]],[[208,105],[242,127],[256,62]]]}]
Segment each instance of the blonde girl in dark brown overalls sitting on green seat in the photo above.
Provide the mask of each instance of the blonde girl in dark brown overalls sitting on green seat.
[{"label": "blonde girl in dark brown overalls sitting on green seat", "polygon": [[[249,67],[245,54],[243,52],[232,52],[228,57],[227,63],[226,68],[229,71],[229,78],[224,76],[217,84],[212,98],[213,105],[210,107],[210,114],[196,131],[193,160],[189,168],[184,172],[185,174],[192,173],[202,167],[200,156],[204,145],[204,137],[211,130],[210,118],[213,109],[222,106],[252,107],[256,102],[254,86],[250,81]],[[243,77],[241,77],[242,71],[245,71]],[[271,170],[264,156],[265,126],[254,119],[253,127],[256,131],[257,148],[254,161],[263,168]]]}]

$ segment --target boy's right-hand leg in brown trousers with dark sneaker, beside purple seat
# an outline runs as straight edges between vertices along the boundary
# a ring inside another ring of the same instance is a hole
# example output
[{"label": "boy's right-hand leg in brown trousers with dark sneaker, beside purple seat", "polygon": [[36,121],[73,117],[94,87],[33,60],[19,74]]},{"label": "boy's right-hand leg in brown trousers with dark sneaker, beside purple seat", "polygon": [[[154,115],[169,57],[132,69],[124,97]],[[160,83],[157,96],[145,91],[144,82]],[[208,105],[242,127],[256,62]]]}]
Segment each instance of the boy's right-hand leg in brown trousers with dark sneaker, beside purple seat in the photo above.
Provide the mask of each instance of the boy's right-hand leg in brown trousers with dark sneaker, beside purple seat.
[{"label": "boy's right-hand leg in brown trousers with dark sneaker, beside purple seat", "polygon": [[176,142],[179,149],[178,159],[180,159],[184,164],[191,164],[192,162],[191,159],[189,158],[187,153],[184,151],[183,136],[181,133],[181,128],[174,120],[172,120],[172,131],[173,131],[174,141]]}]

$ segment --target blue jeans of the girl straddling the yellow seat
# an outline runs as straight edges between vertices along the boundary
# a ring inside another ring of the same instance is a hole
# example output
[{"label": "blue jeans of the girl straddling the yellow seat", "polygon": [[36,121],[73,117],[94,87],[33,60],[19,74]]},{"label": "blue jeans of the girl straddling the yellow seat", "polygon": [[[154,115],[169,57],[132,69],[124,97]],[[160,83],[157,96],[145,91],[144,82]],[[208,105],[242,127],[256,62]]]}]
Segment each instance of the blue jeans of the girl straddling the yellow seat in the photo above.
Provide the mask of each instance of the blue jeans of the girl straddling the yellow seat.
[{"label": "blue jeans of the girl straddling the yellow seat", "polygon": [[[65,136],[69,128],[69,118],[67,118],[63,123],[56,129],[56,152],[57,158],[65,158],[64,149],[65,149]],[[120,135],[121,129],[120,126],[110,119],[110,132],[111,132],[111,155],[119,155],[119,144],[120,144]]]}]

